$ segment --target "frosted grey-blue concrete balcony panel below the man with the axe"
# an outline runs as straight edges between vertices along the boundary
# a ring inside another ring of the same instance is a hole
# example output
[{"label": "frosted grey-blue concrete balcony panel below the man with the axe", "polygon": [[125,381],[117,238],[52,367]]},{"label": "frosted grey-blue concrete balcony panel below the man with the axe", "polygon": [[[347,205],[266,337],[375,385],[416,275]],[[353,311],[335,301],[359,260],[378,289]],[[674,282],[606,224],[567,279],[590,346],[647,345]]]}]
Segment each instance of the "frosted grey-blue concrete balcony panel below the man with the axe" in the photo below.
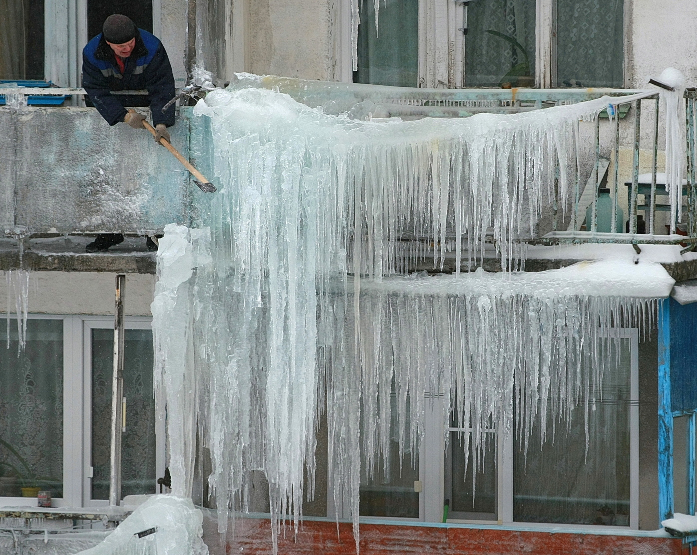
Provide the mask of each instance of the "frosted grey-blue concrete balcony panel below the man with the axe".
[{"label": "frosted grey-blue concrete balcony panel below the man with the axe", "polygon": [[[189,135],[187,119],[171,128],[185,157]],[[151,134],[109,127],[93,108],[0,108],[0,151],[0,226],[143,233],[188,222],[189,173]]]}]

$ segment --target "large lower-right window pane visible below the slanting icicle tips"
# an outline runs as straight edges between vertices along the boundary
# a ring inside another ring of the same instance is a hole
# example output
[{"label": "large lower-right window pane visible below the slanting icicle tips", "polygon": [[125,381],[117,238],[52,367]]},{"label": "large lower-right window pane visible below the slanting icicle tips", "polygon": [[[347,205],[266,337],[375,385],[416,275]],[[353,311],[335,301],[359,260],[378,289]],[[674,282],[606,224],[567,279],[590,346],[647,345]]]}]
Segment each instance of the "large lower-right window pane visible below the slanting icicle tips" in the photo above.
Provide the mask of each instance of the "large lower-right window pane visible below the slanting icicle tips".
[{"label": "large lower-right window pane visible below the slanting icicle tips", "polygon": [[[590,363],[589,363],[590,364]],[[519,522],[629,526],[629,340],[607,359],[600,391],[581,393],[571,421],[551,419],[540,444],[539,419],[526,453],[516,439],[513,516]],[[584,408],[588,398],[588,454]],[[516,409],[517,410],[517,409]],[[517,412],[516,412],[517,414]]]}]

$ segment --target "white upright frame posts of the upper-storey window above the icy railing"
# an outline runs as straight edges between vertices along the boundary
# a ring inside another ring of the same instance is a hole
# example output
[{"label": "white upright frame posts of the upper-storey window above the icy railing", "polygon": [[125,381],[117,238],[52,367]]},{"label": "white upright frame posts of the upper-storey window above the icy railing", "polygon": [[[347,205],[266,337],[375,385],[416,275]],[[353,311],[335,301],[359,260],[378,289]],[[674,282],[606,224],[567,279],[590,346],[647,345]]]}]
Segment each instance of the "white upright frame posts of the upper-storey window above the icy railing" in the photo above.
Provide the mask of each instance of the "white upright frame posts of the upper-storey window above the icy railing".
[{"label": "white upright frame posts of the upper-storey window above the icy railing", "polygon": [[[556,81],[556,0],[536,0],[535,87],[553,88]],[[623,84],[627,84],[627,59],[631,33],[631,0],[625,0]],[[464,34],[462,0],[419,0],[419,86],[462,88],[464,79]],[[351,0],[339,0],[335,9],[339,32],[335,36],[337,81],[351,83]]]}]

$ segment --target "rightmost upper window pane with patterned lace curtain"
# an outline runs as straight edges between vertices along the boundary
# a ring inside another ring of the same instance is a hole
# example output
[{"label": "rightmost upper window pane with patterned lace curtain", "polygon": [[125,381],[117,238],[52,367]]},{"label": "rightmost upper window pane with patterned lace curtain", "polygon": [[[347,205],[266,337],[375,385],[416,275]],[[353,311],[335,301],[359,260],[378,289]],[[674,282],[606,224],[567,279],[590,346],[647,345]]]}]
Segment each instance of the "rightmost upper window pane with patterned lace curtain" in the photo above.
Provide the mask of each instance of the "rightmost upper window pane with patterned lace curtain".
[{"label": "rightmost upper window pane with patterned lace curtain", "polygon": [[557,86],[622,86],[624,4],[557,0]]}]

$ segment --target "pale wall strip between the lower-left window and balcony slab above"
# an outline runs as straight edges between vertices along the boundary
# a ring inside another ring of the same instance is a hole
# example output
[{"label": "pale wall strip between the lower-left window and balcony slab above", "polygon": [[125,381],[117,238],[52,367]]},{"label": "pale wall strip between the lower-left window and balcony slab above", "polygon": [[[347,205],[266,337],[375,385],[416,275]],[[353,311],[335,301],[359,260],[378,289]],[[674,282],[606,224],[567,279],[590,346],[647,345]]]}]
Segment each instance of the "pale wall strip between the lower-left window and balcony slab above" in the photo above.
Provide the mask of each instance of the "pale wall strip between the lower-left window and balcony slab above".
[{"label": "pale wall strip between the lower-left window and balcony slab above", "polygon": [[[108,272],[31,272],[29,313],[113,315],[115,282],[116,274]],[[154,290],[155,276],[127,274],[126,315],[150,316]],[[0,272],[0,313],[6,311],[6,272]]]}]

